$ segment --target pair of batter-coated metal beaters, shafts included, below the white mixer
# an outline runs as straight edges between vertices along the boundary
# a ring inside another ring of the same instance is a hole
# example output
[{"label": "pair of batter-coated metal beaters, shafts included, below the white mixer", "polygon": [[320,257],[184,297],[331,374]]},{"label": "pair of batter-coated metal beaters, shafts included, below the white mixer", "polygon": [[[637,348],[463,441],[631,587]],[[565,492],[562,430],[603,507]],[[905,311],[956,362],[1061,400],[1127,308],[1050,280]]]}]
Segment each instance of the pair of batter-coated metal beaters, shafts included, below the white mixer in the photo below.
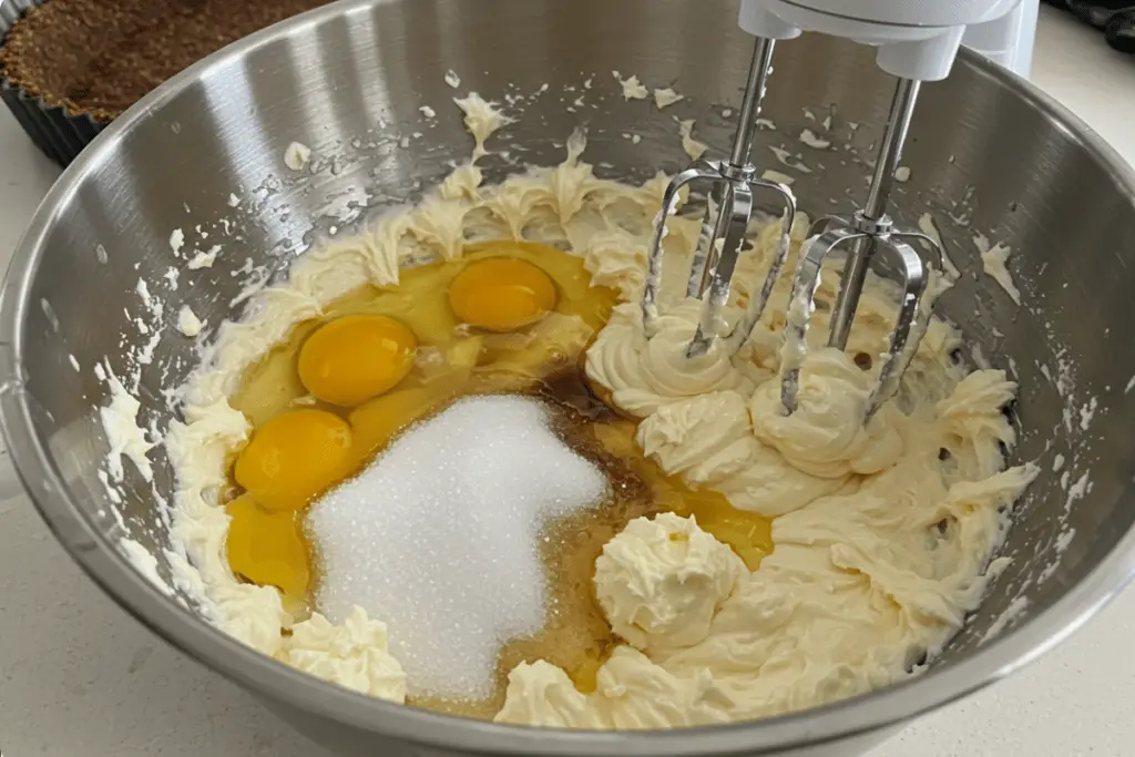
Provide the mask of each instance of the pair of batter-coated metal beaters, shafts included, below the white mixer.
[{"label": "pair of batter-coated metal beaters, shafts included, below the white mixer", "polygon": [[[662,281],[663,239],[666,219],[675,212],[680,193],[695,183],[712,183],[701,234],[690,268],[687,296],[701,300],[697,331],[687,348],[688,358],[706,354],[715,339],[724,337],[725,348],[733,353],[743,346],[753,328],[768,304],[773,286],[784,268],[789,253],[789,234],[796,218],[796,196],[785,185],[756,176],[749,161],[760,99],[768,78],[774,41],[758,39],[749,68],[748,85],[741,104],[741,121],[728,162],[701,160],[682,171],[671,182],[663,197],[663,211],[655,221],[655,233],[647,264],[642,293],[642,322],[647,337],[654,336],[658,319],[658,287]],[[815,310],[813,293],[819,285],[823,263],[838,249],[846,249],[847,256],[840,291],[832,313],[829,346],[847,346],[863,285],[872,259],[880,252],[898,264],[903,279],[899,318],[891,336],[890,347],[881,361],[878,384],[872,393],[867,417],[894,393],[922,338],[917,326],[919,306],[928,284],[927,268],[941,270],[942,251],[934,239],[911,229],[897,229],[886,215],[888,197],[906,142],[910,118],[918,95],[919,82],[900,79],[888,118],[886,129],[875,162],[875,171],[867,202],[850,217],[829,216],[812,226],[809,243],[801,254],[792,286],[791,303],[804,303],[800,312],[790,313],[787,339],[799,345],[782,367],[781,397],[784,407],[796,410],[800,363],[808,322]],[[724,334],[721,310],[729,301],[733,274],[746,243],[753,218],[753,193],[762,188],[780,195],[784,203],[781,235],[776,253],[759,293],[753,296],[747,312],[731,331]],[[908,242],[920,241],[931,252],[927,259]],[[708,294],[707,294],[708,292]]]}]

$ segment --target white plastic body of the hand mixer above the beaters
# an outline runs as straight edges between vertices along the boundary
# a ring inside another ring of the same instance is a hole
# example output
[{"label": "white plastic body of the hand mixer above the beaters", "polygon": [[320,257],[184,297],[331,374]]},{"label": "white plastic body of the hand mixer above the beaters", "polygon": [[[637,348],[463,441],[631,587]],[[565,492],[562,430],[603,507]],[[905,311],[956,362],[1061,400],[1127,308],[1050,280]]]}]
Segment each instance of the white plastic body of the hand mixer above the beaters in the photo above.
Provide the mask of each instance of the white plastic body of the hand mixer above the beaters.
[{"label": "white plastic body of the hand mixer above the beaters", "polygon": [[901,78],[950,74],[966,43],[1028,73],[1037,0],[743,0],[741,27],[790,39],[801,30],[878,48],[878,65]]}]

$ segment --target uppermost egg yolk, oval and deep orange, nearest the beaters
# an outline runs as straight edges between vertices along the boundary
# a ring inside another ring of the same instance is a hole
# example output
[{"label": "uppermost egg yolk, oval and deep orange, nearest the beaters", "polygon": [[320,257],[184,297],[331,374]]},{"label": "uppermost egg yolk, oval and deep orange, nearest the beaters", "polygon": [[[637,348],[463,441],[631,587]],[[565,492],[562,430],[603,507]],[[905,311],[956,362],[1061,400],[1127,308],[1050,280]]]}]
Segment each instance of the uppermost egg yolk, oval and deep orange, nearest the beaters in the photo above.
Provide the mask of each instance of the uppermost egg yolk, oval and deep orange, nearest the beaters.
[{"label": "uppermost egg yolk, oval and deep orange, nearest the beaters", "polygon": [[516,258],[470,263],[449,285],[449,306],[462,321],[513,331],[556,306],[556,286],[538,266]]}]

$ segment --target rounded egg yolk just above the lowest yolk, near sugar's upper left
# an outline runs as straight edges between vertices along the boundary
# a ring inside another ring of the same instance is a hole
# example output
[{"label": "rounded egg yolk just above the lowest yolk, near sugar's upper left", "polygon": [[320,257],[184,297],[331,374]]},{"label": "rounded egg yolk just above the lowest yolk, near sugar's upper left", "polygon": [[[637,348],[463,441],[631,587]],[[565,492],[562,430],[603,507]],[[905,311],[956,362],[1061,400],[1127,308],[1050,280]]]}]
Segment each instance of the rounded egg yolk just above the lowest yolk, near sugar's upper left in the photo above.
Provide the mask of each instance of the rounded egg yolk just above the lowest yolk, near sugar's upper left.
[{"label": "rounded egg yolk just above the lowest yolk, near sugar's upper left", "polygon": [[303,510],[351,472],[351,426],[322,410],[292,410],[253,431],[236,482],[269,511]]}]

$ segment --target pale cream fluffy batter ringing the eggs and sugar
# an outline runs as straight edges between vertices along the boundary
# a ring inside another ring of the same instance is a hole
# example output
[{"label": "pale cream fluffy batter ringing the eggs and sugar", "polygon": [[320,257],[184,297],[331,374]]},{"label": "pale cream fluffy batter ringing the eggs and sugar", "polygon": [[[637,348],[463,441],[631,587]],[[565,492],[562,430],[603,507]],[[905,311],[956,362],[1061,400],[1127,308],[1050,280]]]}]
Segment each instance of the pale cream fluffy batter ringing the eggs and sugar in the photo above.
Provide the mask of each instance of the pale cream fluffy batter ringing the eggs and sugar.
[{"label": "pale cream fluffy batter ringing the eggs and sugar", "polygon": [[[1001,409],[1015,385],[1000,371],[967,375],[951,360],[960,335],[934,320],[899,396],[864,426],[873,373],[860,364],[885,351],[896,311],[894,292],[872,279],[847,354],[812,352],[799,409],[785,415],[776,373],[788,280],[742,353],[715,348],[687,360],[697,303],[674,293],[684,289],[700,218],[675,217],[665,243],[671,296],[647,342],[637,298],[666,178],[642,186],[596,178],[577,132],[560,166],[485,186],[476,160],[506,119],[476,94],[455,102],[474,135],[474,159],[418,205],[297,259],[288,280],[258,294],[244,320],[220,327],[183,387],[185,422],[166,441],[178,473],[178,583],[249,646],[403,701],[405,675],[381,619],[356,609],[342,625],[318,613],[296,623],[275,589],[232,573],[217,490],[226,456],[251,428],[228,397],[246,368],[339,296],[365,284],[396,285],[402,266],[455,259],[472,242],[524,238],[574,251],[596,285],[620,293],[625,304],[588,351],[590,380],[639,419],[640,446],[667,473],[775,518],[775,552],[750,572],[691,519],[632,521],[596,564],[596,595],[627,641],[600,668],[596,690],[580,693],[548,663],[522,664],[497,720],[602,729],[718,723],[822,705],[917,673],[1003,567],[990,556],[1035,476],[1031,466],[1002,470],[1002,446],[1015,435]],[[777,227],[754,229],[726,317],[763,280]],[[801,219],[793,256],[804,228]],[[824,306],[836,280],[825,271],[815,335],[826,330]]]}]

